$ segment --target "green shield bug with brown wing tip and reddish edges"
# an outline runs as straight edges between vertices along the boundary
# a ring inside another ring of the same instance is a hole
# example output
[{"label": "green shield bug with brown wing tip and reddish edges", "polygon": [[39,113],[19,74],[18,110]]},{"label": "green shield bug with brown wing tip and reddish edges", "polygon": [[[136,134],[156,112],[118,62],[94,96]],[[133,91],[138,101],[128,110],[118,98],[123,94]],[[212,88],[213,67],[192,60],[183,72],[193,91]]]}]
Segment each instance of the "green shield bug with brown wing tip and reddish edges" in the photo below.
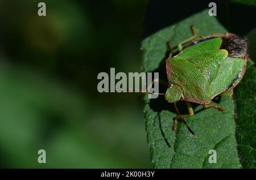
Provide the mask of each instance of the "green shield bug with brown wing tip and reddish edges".
[{"label": "green shield bug with brown wing tip and reddish edges", "polygon": [[[168,42],[171,53],[166,60],[168,88],[164,96],[174,103],[177,112],[172,129],[176,130],[177,119],[180,119],[194,135],[184,119],[194,115],[190,102],[224,111],[211,101],[220,94],[232,96],[233,88],[246,71],[248,45],[246,40],[233,33],[197,37],[193,25],[191,29],[193,36],[177,45],[177,55],[172,56],[173,48]],[[188,42],[191,43],[182,48]],[[179,113],[177,101],[185,101],[189,114]]]}]

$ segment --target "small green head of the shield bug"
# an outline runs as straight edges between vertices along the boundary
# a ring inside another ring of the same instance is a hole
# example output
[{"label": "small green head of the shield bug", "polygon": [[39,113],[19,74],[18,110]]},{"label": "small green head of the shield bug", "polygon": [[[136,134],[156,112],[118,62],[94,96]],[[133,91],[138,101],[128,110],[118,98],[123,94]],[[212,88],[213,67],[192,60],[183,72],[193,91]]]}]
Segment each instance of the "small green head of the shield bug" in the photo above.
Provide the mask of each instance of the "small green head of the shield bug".
[{"label": "small green head of the shield bug", "polygon": [[176,84],[171,84],[165,94],[166,100],[170,103],[179,101],[181,96],[183,96],[183,91],[179,85]]}]

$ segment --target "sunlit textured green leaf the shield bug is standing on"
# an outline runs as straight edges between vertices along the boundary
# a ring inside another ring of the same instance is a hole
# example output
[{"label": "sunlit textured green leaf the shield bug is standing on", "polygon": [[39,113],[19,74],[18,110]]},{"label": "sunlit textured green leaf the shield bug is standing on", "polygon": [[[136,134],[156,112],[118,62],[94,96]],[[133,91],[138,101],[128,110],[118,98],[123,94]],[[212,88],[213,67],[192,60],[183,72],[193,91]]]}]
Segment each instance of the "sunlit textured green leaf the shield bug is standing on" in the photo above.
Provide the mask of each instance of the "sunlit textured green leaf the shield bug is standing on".
[{"label": "sunlit textured green leaf the shield bug is standing on", "polygon": [[[164,28],[143,40],[143,70],[159,72],[160,77],[166,76],[164,62],[168,56],[167,42],[171,40],[172,46],[176,46],[179,42],[191,37],[192,33],[189,28],[191,24],[195,25],[199,36],[214,32],[226,32],[216,18],[208,15],[208,10]],[[243,81],[246,82],[246,80]],[[163,89],[163,91],[165,90]],[[147,142],[150,147],[151,161],[155,168],[241,168],[241,164],[243,167],[247,167],[243,165],[243,160],[240,160],[242,157],[240,153],[247,150],[240,148],[242,143],[238,143],[237,149],[233,98],[219,98],[218,106],[224,108],[225,112],[213,108],[203,109],[201,105],[193,104],[195,115],[192,118],[187,118],[187,122],[195,132],[195,136],[191,135],[181,122],[178,123],[176,132],[172,131],[173,119],[176,116],[173,104],[168,104],[162,97],[159,97],[158,100],[145,98],[144,115]],[[253,96],[251,98],[251,101],[255,102],[255,98]],[[247,104],[247,102],[242,103]],[[179,102],[178,108],[184,109],[184,104]],[[255,113],[254,106],[250,108],[252,109],[246,109],[247,114],[250,114],[250,111]],[[185,113],[188,112],[185,111]],[[240,115],[245,114],[241,112],[237,114],[237,117]],[[246,126],[241,127],[243,131]],[[240,133],[238,130],[242,131],[238,128],[237,135]],[[255,135],[254,132],[251,131],[250,135]],[[216,150],[217,163],[209,163],[210,149]],[[251,151],[250,156],[253,156],[253,153],[255,152]],[[250,157],[245,155],[243,158]]]}]

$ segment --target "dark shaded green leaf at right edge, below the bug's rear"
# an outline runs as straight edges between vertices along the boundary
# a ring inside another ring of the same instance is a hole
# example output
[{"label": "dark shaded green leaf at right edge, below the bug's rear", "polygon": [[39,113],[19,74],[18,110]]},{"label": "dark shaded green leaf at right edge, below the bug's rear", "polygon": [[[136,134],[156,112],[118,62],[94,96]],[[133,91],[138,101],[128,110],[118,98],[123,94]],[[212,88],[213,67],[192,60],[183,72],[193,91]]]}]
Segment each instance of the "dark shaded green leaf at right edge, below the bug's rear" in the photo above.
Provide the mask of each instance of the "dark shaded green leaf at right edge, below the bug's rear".
[{"label": "dark shaded green leaf at right edge, below the bug's rear", "polygon": [[236,138],[242,168],[256,168],[255,77],[255,66],[247,65],[246,74],[234,93]]}]

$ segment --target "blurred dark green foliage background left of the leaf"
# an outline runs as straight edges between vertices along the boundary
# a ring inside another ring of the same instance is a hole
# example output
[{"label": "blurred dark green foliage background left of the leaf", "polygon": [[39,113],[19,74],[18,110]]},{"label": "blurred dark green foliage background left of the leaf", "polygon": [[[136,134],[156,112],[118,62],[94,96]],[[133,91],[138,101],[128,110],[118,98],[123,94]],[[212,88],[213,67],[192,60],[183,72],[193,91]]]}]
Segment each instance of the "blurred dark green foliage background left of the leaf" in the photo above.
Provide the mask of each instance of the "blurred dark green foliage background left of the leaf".
[{"label": "blurred dark green foliage background left of the leaf", "polygon": [[141,71],[147,1],[39,2],[0,1],[0,167],[151,168],[143,102],[97,91],[99,72]]}]

